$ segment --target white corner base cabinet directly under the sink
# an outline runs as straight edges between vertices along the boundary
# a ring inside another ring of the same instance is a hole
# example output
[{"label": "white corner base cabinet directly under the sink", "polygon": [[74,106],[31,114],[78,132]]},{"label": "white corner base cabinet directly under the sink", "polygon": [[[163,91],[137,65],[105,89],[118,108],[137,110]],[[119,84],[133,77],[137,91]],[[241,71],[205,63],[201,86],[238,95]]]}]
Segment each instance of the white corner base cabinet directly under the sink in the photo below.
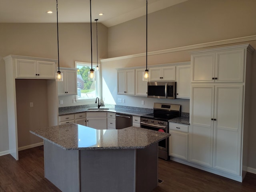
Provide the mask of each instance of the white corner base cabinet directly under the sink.
[{"label": "white corner base cabinet directly under the sink", "polygon": [[95,129],[107,129],[107,112],[86,112],[87,126]]}]

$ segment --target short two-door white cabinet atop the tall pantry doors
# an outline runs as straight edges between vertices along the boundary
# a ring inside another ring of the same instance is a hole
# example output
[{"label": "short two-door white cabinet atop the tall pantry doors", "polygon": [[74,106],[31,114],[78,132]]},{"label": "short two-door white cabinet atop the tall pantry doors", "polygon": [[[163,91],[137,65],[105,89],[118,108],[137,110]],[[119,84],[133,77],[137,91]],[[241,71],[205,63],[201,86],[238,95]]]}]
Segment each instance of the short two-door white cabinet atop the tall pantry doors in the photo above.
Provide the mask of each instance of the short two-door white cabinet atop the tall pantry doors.
[{"label": "short two-door white cabinet atop the tall pantry doors", "polygon": [[244,82],[246,48],[191,52],[192,82]]}]

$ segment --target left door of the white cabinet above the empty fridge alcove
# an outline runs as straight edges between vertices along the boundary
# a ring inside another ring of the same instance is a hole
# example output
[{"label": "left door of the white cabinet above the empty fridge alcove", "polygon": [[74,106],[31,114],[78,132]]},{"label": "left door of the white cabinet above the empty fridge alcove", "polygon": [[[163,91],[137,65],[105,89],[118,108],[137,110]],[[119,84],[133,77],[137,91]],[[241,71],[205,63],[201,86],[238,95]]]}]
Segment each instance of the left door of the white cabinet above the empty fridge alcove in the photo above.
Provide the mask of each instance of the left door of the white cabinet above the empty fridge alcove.
[{"label": "left door of the white cabinet above the empty fridge alcove", "polygon": [[37,78],[36,61],[17,59],[16,78]]}]

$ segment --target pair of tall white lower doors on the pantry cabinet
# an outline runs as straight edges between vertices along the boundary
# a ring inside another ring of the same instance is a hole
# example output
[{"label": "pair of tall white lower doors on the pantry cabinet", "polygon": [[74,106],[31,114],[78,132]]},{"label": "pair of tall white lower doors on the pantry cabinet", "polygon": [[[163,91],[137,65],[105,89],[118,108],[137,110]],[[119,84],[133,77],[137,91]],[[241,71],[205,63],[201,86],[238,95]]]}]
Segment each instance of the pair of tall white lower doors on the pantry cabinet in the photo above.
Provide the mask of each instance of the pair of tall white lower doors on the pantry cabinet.
[{"label": "pair of tall white lower doors on the pantry cabinet", "polygon": [[243,85],[193,85],[190,161],[241,174]]}]

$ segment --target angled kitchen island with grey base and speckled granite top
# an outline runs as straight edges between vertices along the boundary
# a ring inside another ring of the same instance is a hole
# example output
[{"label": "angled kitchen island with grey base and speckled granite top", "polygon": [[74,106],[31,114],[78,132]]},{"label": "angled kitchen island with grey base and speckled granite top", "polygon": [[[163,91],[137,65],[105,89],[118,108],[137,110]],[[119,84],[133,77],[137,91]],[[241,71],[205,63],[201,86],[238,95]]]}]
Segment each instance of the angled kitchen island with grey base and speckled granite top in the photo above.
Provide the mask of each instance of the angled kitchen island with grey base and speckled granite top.
[{"label": "angled kitchen island with grey base and speckled granite top", "polygon": [[64,124],[30,131],[44,139],[44,174],[63,192],[150,192],[158,185],[158,142],[138,127]]}]

